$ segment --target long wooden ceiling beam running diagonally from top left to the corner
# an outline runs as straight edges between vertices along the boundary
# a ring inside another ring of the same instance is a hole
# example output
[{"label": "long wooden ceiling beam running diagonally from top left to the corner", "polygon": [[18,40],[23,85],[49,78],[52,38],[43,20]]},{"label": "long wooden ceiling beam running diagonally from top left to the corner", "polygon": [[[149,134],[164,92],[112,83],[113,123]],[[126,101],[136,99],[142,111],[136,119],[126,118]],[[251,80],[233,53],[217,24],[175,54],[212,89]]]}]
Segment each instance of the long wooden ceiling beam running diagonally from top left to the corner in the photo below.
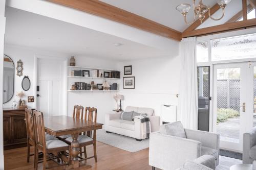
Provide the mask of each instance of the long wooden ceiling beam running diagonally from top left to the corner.
[{"label": "long wooden ceiling beam running diagonally from top left to the corner", "polygon": [[166,38],[181,40],[181,32],[146,19],[131,12],[122,10],[98,0],[47,0],[52,3],[74,8],[83,12],[110,19],[143,31]]}]

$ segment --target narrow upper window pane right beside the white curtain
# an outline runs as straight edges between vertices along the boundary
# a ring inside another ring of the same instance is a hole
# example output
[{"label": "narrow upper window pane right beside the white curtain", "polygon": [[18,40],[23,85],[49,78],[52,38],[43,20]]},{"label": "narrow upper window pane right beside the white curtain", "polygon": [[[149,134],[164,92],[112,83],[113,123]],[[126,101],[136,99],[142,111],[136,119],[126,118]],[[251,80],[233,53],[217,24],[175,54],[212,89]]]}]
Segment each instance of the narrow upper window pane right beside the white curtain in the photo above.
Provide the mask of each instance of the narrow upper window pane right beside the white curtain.
[{"label": "narrow upper window pane right beside the white curtain", "polygon": [[197,43],[197,62],[208,61],[208,41]]}]

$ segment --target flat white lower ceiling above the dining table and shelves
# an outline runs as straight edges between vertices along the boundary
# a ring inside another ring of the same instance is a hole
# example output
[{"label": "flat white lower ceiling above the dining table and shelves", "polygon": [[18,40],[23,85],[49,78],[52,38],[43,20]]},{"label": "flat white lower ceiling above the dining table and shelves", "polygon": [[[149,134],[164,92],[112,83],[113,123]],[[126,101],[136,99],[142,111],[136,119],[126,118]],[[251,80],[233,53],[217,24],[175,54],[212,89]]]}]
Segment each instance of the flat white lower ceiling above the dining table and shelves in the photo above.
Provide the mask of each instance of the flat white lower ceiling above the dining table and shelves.
[{"label": "flat white lower ceiling above the dining table and shelves", "polygon": [[119,61],[170,56],[169,51],[11,7],[6,8],[5,43]]}]

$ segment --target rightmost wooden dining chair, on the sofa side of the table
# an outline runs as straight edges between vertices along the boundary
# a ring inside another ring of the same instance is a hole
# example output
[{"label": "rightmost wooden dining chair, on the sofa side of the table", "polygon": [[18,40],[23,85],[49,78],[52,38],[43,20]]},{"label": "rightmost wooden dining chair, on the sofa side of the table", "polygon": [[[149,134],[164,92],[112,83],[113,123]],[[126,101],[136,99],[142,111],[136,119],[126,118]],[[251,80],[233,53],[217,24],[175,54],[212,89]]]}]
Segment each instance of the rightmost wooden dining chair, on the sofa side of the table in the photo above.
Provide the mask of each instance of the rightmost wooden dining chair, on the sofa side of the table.
[{"label": "rightmost wooden dining chair, on the sofa side of the table", "polygon": [[[84,116],[84,119],[89,121],[89,122],[97,122],[97,109],[96,108],[91,108],[87,107],[86,108],[86,114]],[[67,143],[71,143],[73,140],[72,137],[68,137],[65,139]],[[77,141],[79,142],[79,148],[83,147],[83,152],[80,150],[80,160],[87,160],[90,158],[94,158],[95,162],[97,162],[97,153],[96,153],[96,130],[92,131],[87,131],[83,132],[82,135],[79,135],[77,138]],[[94,156],[87,157],[86,153],[86,146],[93,144],[93,151],[94,151]],[[81,157],[81,154],[84,153],[84,158]]]}]

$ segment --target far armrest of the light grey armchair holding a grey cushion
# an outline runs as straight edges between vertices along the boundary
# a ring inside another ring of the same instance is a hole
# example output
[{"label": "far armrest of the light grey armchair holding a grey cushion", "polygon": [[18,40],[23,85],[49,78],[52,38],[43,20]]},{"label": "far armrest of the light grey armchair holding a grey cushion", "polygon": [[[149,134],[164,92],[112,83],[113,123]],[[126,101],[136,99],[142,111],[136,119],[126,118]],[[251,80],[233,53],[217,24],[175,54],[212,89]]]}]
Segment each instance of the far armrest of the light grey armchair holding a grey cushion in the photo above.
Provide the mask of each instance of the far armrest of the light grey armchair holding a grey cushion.
[{"label": "far armrest of the light grey armchair holding a grey cushion", "polygon": [[217,133],[190,129],[185,129],[185,133],[188,139],[200,141],[202,143],[202,147],[208,147],[218,151],[220,149],[220,135]]}]

